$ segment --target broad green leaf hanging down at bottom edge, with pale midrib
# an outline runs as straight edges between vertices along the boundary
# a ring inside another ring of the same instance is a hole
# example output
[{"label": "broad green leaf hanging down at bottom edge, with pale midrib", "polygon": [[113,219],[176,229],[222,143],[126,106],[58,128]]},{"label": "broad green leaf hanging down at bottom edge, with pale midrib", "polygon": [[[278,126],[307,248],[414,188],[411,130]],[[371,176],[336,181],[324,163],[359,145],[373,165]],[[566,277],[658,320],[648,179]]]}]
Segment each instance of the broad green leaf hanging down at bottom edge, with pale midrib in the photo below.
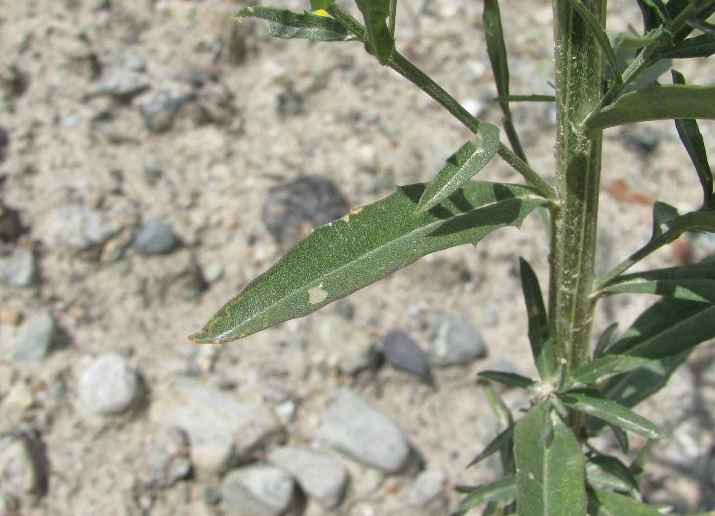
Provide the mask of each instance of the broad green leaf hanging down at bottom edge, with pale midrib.
[{"label": "broad green leaf hanging down at bottom edge, with pale midrib", "polygon": [[549,412],[539,403],[514,428],[518,514],[582,515],[586,489],[581,445],[561,417]]}]

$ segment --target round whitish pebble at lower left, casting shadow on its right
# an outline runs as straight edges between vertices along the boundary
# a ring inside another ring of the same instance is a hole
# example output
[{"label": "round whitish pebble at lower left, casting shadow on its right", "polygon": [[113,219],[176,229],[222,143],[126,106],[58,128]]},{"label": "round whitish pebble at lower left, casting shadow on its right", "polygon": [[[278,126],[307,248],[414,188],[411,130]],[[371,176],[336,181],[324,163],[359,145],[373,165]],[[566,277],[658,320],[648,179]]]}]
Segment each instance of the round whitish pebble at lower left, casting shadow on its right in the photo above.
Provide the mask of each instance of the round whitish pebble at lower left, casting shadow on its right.
[{"label": "round whitish pebble at lower left, casting shadow on its right", "polygon": [[139,378],[118,354],[102,354],[79,376],[79,399],[95,414],[119,414],[139,394]]}]

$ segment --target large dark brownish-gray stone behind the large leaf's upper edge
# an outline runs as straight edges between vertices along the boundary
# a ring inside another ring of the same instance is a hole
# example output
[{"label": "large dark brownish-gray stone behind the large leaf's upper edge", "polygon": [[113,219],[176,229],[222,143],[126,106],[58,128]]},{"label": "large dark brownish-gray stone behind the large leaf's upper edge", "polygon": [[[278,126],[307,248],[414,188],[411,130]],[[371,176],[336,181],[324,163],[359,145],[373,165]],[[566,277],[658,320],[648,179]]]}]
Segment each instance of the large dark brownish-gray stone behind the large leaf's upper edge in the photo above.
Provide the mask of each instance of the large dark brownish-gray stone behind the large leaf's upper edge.
[{"label": "large dark brownish-gray stone behind the large leaf's upper edge", "polygon": [[335,184],[303,176],[268,191],[263,222],[281,249],[287,249],[307,237],[313,227],[339,219],[349,209]]}]

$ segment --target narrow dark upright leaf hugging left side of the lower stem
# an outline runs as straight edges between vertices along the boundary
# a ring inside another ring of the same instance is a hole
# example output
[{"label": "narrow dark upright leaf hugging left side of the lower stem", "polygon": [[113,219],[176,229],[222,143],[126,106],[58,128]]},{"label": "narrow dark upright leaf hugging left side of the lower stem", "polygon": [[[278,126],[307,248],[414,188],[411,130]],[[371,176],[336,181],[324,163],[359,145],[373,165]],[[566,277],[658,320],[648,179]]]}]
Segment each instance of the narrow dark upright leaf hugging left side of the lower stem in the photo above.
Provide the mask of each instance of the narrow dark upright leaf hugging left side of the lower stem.
[{"label": "narrow dark upright leaf hugging left side of the lower stem", "polygon": [[541,379],[553,377],[556,372],[556,358],[553,353],[553,342],[548,331],[546,306],[541,295],[541,285],[531,265],[525,259],[519,258],[521,270],[521,288],[526,301],[528,315],[528,334],[531,342],[531,354]]}]

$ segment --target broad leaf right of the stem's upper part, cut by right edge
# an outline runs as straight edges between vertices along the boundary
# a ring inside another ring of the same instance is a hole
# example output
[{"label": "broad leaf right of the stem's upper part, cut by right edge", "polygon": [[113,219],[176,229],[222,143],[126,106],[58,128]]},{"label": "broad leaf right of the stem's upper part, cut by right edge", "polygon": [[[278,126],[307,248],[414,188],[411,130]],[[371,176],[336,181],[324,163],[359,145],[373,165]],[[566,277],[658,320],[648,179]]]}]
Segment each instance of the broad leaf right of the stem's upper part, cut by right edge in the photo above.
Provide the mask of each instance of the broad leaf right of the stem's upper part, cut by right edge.
[{"label": "broad leaf right of the stem's upper part, cut by right edge", "polygon": [[606,129],[637,121],[715,119],[715,86],[657,82],[621,96],[586,121],[587,129]]}]

